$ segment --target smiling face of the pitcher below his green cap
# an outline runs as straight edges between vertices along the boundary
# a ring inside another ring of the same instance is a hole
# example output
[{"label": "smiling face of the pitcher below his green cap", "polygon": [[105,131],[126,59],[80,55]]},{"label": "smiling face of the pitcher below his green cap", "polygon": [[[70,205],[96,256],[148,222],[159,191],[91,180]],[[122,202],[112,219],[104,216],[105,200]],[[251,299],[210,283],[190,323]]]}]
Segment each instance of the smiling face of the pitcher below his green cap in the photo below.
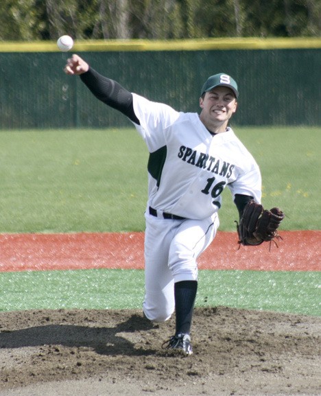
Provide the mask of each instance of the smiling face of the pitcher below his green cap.
[{"label": "smiling face of the pitcher below his green cap", "polygon": [[211,124],[226,124],[237,110],[235,95],[227,86],[217,86],[200,98],[202,117]]}]

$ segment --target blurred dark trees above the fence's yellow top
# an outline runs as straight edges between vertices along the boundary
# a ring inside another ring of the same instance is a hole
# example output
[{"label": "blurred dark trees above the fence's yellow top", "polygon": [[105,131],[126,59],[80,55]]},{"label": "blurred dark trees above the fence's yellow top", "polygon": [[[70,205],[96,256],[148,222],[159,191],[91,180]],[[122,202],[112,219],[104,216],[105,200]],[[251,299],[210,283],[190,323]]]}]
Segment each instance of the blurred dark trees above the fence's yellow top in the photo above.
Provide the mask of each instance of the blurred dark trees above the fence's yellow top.
[{"label": "blurred dark trees above the fence's yellow top", "polygon": [[1,0],[0,40],[320,37],[320,0]]}]

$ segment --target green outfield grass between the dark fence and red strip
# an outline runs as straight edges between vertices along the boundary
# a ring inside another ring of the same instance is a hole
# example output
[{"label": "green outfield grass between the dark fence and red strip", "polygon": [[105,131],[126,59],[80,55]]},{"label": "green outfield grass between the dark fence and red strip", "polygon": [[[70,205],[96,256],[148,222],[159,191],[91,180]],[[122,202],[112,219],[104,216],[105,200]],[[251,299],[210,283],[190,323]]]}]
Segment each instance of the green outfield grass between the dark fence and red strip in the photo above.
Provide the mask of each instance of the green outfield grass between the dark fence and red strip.
[{"label": "green outfield grass between the dark fence and red strip", "polygon": [[[257,159],[263,205],[283,229],[320,229],[321,128],[235,128]],[[147,149],[136,131],[1,131],[1,233],[143,231]],[[224,191],[222,231],[237,211]]]}]

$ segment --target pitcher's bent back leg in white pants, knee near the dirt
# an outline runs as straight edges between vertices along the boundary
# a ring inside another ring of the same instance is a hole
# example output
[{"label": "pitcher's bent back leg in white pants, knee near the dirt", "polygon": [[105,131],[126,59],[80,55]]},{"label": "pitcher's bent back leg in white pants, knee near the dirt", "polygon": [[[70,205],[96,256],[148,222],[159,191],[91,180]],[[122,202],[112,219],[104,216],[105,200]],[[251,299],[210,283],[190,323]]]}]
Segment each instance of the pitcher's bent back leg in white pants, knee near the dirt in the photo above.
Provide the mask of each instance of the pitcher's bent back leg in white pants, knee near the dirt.
[{"label": "pitcher's bent back leg in white pants, knee near the dirt", "polygon": [[168,268],[173,235],[172,222],[146,214],[143,311],[151,321],[167,321],[174,312],[174,279]]}]

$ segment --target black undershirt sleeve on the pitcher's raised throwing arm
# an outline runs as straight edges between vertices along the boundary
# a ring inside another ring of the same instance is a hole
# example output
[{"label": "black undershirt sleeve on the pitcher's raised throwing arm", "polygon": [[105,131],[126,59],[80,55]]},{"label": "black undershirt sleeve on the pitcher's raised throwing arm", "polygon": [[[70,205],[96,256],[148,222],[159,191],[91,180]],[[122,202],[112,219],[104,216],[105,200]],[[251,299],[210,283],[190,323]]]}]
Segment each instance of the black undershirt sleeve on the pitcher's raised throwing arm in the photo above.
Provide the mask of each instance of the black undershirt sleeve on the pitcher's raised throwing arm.
[{"label": "black undershirt sleeve on the pitcher's raised throwing arm", "polygon": [[127,91],[118,82],[97,73],[91,67],[86,73],[81,74],[80,78],[97,99],[119,110],[135,124],[140,125],[139,119],[134,113],[130,91]]}]

